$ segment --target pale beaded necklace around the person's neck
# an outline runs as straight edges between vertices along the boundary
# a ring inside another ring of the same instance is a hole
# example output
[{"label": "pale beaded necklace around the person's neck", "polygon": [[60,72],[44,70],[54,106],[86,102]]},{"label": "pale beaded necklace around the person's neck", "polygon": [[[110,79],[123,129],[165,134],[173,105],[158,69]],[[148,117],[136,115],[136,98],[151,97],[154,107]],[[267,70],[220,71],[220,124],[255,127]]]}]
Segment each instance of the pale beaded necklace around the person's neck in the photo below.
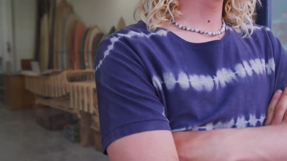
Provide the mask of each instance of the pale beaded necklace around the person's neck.
[{"label": "pale beaded necklace around the person's neck", "polygon": [[183,26],[183,25],[177,23],[174,19],[172,19],[171,22],[173,24],[175,24],[179,29],[186,30],[189,32],[197,32],[200,34],[207,34],[210,36],[220,35],[221,33],[225,32],[225,26],[226,26],[225,20],[223,18],[222,18],[222,28],[218,32],[207,32],[207,31],[203,31],[203,30],[199,30],[199,29],[195,29],[195,28],[186,27],[186,26]]}]

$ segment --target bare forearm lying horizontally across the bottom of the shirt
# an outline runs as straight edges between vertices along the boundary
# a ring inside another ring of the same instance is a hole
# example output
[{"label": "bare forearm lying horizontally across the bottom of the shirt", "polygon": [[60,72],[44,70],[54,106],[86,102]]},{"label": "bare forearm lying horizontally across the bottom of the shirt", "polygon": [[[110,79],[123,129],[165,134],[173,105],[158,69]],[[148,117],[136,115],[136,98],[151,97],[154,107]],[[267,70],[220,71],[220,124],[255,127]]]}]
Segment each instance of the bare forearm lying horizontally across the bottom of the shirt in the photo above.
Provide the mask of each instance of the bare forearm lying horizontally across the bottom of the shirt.
[{"label": "bare forearm lying horizontally across the bottom of the shirt", "polygon": [[286,161],[287,123],[173,134],[180,161]]}]

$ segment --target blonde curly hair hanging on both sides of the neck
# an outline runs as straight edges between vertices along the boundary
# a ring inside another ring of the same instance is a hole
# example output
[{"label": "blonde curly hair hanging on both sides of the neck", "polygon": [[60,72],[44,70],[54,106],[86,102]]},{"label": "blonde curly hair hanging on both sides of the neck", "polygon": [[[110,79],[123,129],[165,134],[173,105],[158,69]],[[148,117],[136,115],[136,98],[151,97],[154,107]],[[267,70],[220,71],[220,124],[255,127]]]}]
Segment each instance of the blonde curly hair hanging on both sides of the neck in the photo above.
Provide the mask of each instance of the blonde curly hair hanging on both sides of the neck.
[{"label": "blonde curly hair hanging on both sides of the neck", "polygon": [[[260,0],[224,0],[222,17],[233,29],[241,30],[243,38],[253,33],[256,4]],[[164,22],[171,23],[171,19],[181,16],[178,0],[141,0],[135,10],[147,25],[149,31],[160,28]]]}]

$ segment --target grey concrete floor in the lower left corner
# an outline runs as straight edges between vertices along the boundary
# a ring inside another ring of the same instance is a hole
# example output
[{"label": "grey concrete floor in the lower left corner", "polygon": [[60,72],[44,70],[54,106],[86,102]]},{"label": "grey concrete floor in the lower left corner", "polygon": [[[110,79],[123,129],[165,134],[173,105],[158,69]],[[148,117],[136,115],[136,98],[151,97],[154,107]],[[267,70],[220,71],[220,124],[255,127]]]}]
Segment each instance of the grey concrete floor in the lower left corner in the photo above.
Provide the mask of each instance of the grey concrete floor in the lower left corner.
[{"label": "grey concrete floor in the lower left corner", "polygon": [[82,148],[35,122],[33,110],[10,111],[0,104],[0,161],[108,161],[93,147]]}]

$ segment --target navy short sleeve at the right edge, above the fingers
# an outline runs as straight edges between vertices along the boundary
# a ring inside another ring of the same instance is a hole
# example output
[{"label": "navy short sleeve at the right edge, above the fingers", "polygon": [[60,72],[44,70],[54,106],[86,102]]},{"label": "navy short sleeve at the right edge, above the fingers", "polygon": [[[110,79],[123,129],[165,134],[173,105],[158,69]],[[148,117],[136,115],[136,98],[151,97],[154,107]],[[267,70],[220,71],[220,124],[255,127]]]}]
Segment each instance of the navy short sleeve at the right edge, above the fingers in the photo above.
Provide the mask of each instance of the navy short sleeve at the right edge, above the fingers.
[{"label": "navy short sleeve at the right edge, above the fingers", "polygon": [[273,45],[275,61],[275,91],[287,87],[287,53],[278,38],[268,32]]}]

